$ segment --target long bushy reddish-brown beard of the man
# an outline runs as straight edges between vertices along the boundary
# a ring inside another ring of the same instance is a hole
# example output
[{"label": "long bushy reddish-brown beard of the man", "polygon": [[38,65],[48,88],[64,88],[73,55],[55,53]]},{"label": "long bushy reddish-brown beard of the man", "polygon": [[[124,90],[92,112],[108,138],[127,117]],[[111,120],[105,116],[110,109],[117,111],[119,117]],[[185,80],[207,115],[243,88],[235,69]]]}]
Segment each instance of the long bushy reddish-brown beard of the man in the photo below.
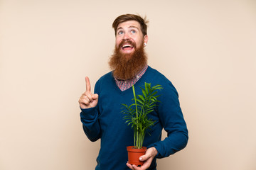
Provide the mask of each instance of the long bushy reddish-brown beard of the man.
[{"label": "long bushy reddish-brown beard of the man", "polygon": [[124,42],[114,48],[114,53],[110,57],[110,69],[113,69],[113,76],[117,79],[128,80],[132,79],[139,71],[145,67],[147,63],[146,52],[143,45],[137,48],[132,54],[123,54],[120,49]]}]

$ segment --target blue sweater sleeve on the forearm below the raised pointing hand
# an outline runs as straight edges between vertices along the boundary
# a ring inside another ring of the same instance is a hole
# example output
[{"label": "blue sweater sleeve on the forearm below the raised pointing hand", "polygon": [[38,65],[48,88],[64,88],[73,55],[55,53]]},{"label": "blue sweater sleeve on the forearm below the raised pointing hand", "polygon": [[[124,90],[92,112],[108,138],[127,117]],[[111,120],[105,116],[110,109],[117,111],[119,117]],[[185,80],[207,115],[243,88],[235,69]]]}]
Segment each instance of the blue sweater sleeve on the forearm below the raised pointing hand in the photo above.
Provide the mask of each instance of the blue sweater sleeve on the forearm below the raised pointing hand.
[{"label": "blue sweater sleeve on the forearm below the raised pointing hand", "polygon": [[[97,93],[97,84],[95,85],[95,94]],[[100,139],[101,130],[99,123],[99,109],[98,105],[94,108],[81,108],[80,119],[82,122],[82,128],[87,135],[88,139],[92,142]]]}]

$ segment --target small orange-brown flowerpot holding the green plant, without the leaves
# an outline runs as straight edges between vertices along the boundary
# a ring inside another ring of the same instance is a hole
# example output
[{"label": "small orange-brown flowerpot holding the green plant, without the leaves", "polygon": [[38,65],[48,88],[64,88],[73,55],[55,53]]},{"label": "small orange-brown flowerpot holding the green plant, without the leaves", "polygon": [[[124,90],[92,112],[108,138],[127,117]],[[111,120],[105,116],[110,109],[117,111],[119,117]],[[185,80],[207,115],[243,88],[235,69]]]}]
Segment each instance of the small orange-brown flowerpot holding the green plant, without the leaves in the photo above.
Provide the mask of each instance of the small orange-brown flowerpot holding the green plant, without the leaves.
[{"label": "small orange-brown flowerpot holding the green plant, without the leaves", "polygon": [[139,161],[139,157],[146,153],[146,147],[142,147],[142,149],[136,149],[134,146],[127,147],[128,152],[128,162],[129,164],[134,165],[143,165],[144,162]]}]

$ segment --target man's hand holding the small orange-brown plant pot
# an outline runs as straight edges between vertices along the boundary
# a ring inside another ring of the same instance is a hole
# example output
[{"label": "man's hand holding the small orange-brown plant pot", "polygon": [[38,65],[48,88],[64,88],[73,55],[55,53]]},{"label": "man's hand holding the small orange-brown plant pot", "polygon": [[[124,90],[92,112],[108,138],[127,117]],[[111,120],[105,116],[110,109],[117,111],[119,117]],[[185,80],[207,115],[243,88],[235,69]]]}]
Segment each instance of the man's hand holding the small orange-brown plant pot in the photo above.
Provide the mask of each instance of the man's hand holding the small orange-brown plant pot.
[{"label": "man's hand holding the small orange-brown plant pot", "polygon": [[142,155],[142,157],[139,157],[140,161],[144,161],[144,164],[142,166],[136,166],[136,165],[131,165],[127,162],[127,166],[129,169],[132,170],[146,170],[149,168],[151,165],[152,160],[154,157],[156,157],[157,150],[155,147],[150,147],[149,149],[146,149],[146,154]]}]

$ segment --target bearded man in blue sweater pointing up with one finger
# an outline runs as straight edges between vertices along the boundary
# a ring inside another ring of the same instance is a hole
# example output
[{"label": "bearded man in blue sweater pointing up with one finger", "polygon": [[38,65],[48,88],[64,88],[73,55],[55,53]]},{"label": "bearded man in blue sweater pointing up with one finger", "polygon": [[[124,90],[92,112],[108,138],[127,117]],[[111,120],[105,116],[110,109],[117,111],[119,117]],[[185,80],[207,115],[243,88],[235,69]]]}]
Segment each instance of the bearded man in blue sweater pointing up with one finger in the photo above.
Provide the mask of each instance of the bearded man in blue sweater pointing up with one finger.
[{"label": "bearded man in blue sweater pointing up with one finger", "polygon": [[[95,84],[92,94],[89,78],[86,77],[86,91],[79,99],[82,127],[92,142],[101,139],[96,169],[156,169],[156,158],[169,157],[186,147],[188,130],[179,106],[178,93],[171,81],[147,65],[144,47],[148,41],[146,21],[140,16],[126,14],[119,16],[112,24],[116,45],[110,58],[112,72],[105,74]],[[127,162],[126,147],[134,144],[131,127],[127,126],[121,113],[122,103],[132,103],[132,86],[143,87],[160,84],[159,105],[149,118],[155,120],[150,134],[144,138],[148,149],[140,157],[142,166]],[[161,141],[164,128],[168,137]]]}]

